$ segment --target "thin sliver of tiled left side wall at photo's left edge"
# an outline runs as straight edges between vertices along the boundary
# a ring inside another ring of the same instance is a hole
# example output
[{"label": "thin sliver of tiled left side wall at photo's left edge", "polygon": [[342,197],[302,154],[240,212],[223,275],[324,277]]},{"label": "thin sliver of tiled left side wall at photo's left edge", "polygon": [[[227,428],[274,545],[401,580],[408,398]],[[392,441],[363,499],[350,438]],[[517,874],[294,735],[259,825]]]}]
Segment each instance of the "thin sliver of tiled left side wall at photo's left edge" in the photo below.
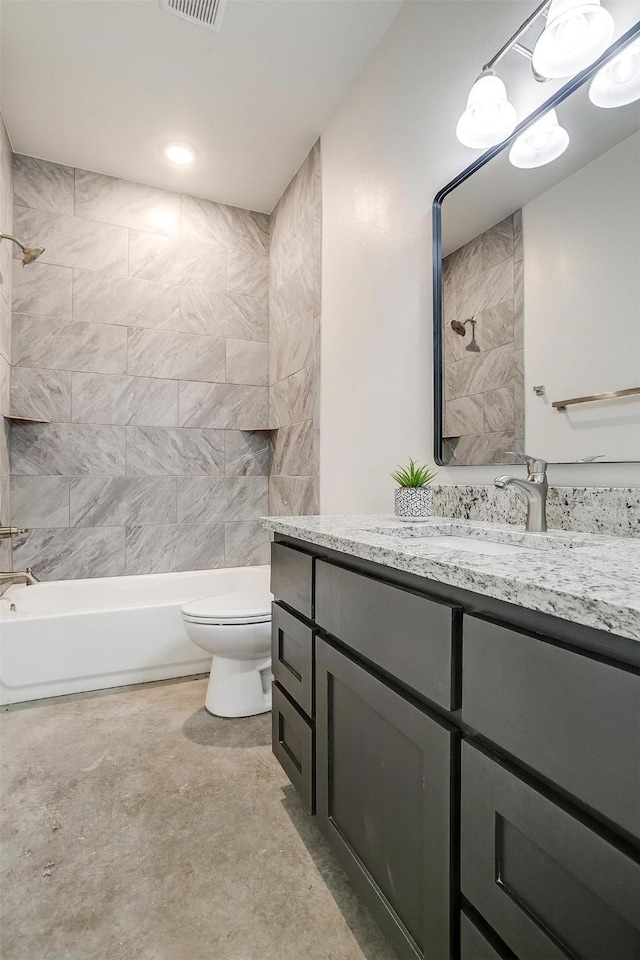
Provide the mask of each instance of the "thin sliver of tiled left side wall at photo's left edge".
[{"label": "thin sliver of tiled left side wall at photo's left edge", "polygon": [[[0,233],[13,233],[11,144],[0,114]],[[11,244],[0,241],[0,525],[9,514],[9,374],[11,361]],[[11,546],[0,541],[0,570],[11,569]]]}]

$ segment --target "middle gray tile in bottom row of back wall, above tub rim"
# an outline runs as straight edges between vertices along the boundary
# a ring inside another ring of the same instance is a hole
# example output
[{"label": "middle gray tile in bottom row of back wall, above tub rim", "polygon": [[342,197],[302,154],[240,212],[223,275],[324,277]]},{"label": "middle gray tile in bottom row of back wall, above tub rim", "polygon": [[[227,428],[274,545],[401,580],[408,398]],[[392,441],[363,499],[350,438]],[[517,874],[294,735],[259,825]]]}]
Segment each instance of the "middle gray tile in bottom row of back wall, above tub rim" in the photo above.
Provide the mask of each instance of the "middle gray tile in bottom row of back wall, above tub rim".
[{"label": "middle gray tile in bottom row of back wall, above tub rim", "polygon": [[167,573],[225,565],[224,524],[126,528],[126,572]]}]

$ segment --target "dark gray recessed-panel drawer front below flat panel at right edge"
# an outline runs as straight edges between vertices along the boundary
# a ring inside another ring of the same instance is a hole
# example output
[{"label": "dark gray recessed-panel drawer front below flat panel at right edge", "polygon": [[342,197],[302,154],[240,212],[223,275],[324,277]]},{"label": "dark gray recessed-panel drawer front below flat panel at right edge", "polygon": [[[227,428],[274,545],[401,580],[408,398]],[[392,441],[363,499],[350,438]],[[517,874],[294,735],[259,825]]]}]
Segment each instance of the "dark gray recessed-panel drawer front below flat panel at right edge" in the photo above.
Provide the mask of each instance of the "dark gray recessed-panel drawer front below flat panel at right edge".
[{"label": "dark gray recessed-panel drawer front below flat panel at right edge", "polygon": [[638,960],[640,868],[468,743],[461,889],[520,960]]}]

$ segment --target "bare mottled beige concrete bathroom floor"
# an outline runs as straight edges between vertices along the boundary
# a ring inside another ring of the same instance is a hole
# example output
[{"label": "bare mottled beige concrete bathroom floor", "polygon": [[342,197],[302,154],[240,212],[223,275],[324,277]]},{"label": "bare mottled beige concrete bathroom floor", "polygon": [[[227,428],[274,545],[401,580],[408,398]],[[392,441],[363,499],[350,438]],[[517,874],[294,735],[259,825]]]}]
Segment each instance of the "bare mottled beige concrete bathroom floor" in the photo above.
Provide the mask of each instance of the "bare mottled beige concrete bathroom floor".
[{"label": "bare mottled beige concrete bathroom floor", "polygon": [[391,960],[271,755],[202,679],[2,714],[3,960]]}]

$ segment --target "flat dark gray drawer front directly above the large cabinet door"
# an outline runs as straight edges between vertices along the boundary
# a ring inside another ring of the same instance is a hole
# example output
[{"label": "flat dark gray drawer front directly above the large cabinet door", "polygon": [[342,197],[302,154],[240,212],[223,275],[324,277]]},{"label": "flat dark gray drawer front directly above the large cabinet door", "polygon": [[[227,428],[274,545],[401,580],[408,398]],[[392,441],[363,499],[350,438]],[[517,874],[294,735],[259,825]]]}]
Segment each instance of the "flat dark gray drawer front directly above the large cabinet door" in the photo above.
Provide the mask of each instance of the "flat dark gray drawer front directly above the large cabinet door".
[{"label": "flat dark gray drawer front directly above the large cabinet door", "polygon": [[316,564],[316,623],[446,710],[457,706],[457,609],[323,561]]}]

